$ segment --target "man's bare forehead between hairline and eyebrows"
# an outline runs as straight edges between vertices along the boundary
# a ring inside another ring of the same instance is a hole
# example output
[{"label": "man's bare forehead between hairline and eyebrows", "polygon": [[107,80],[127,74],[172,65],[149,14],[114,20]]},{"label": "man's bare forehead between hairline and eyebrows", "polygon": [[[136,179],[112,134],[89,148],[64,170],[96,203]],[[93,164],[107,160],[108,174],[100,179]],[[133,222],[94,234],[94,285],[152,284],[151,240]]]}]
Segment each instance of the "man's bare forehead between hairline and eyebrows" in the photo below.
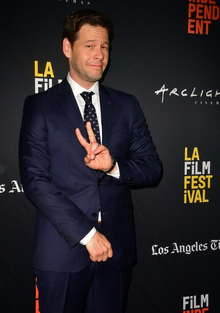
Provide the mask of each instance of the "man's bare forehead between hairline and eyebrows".
[{"label": "man's bare forehead between hairline and eyebrows", "polygon": [[108,42],[108,33],[106,28],[101,26],[83,25],[79,32],[77,40],[102,40]]}]

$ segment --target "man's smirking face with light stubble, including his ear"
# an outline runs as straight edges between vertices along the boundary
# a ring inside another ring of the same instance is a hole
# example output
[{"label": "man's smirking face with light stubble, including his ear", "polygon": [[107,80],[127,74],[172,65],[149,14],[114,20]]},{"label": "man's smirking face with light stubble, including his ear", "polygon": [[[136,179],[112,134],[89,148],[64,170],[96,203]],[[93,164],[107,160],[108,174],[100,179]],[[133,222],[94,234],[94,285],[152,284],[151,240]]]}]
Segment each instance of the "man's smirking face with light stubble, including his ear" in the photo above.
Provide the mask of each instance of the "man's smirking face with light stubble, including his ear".
[{"label": "man's smirking face with light stubble, including his ear", "polygon": [[64,38],[63,53],[69,58],[71,78],[86,89],[93,86],[106,68],[108,48],[107,30],[99,26],[83,25],[73,48]]}]

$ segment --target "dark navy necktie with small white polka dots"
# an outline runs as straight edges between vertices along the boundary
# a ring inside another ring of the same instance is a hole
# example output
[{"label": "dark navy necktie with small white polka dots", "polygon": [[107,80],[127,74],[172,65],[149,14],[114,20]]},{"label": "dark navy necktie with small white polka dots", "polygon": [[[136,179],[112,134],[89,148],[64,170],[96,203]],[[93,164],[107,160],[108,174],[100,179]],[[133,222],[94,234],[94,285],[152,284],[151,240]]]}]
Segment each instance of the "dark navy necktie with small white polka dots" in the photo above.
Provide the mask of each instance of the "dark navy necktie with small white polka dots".
[{"label": "dark navy necktie with small white polka dots", "polygon": [[101,144],[100,140],[100,132],[99,132],[99,124],[98,119],[96,115],[96,109],[95,106],[92,103],[92,95],[95,95],[94,92],[83,92],[80,94],[80,96],[85,101],[85,107],[84,107],[84,123],[86,125],[86,122],[91,122],[93,132],[96,136],[96,141]]}]

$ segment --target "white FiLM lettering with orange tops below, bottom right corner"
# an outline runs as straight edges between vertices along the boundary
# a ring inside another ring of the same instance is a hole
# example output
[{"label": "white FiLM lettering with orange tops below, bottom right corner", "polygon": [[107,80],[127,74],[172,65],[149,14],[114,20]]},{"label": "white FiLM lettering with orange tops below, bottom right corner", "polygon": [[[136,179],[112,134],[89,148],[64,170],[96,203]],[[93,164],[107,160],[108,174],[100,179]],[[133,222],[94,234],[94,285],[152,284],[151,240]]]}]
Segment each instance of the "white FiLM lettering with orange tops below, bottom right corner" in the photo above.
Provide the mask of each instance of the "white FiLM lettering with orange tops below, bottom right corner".
[{"label": "white FiLM lettering with orange tops below, bottom right corner", "polygon": [[183,313],[206,313],[209,310],[209,295],[183,297]]}]

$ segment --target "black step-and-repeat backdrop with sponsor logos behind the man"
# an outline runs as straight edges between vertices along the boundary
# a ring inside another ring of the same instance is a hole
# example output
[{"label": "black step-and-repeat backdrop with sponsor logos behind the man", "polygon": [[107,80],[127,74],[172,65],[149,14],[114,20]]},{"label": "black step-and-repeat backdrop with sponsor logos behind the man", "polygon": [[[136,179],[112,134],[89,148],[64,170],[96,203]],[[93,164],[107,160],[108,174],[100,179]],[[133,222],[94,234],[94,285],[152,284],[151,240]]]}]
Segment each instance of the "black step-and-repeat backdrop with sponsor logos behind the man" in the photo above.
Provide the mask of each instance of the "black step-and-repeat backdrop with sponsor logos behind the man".
[{"label": "black step-and-repeat backdrop with sponsor logos behind the man", "polygon": [[67,74],[62,20],[80,8],[112,19],[115,38],[103,83],[136,95],[163,163],[158,186],[132,190],[138,263],[126,313],[220,311],[219,7],[220,0],[1,5],[2,313],[38,311],[35,209],[19,178],[19,128],[25,97]]}]

